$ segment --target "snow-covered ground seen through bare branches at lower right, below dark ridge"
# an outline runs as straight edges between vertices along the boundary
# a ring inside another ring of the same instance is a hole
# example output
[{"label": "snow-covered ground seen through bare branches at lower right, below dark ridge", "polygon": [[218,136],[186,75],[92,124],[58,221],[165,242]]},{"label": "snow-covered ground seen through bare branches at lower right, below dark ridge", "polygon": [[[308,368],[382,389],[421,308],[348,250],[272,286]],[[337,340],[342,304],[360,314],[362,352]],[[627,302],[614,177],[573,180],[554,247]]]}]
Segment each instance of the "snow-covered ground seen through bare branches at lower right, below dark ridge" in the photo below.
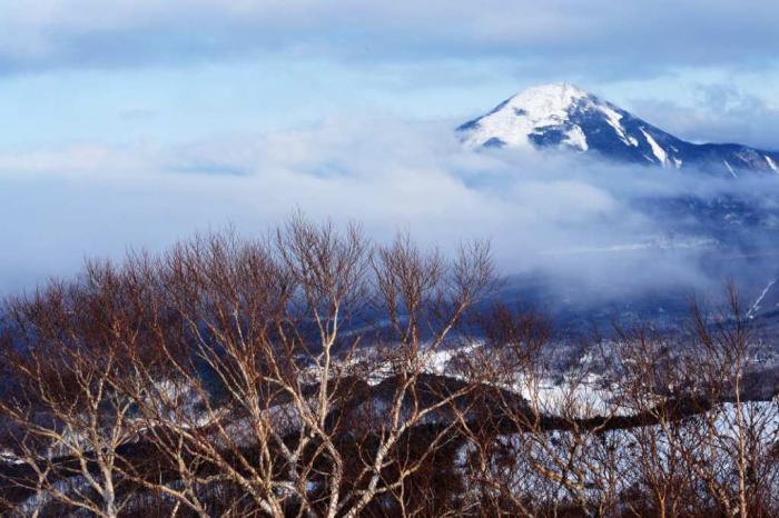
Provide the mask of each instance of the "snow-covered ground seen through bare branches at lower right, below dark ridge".
[{"label": "snow-covered ground seen through bare branches at lower right, below dark ridge", "polygon": [[[604,491],[620,495],[641,484],[641,470],[639,467],[648,459],[644,456],[651,451],[651,462],[657,462],[654,469],[668,468],[670,461],[681,461],[681,451],[692,451],[697,462],[702,462],[703,470],[714,472],[714,459],[710,459],[711,467],[707,467],[707,457],[716,451],[718,462],[716,480],[719,484],[732,484],[737,456],[737,438],[741,434],[747,440],[759,442],[763,450],[759,455],[768,454],[772,445],[779,441],[779,415],[777,401],[758,401],[742,404],[741,411],[749,425],[738,426],[737,407],[732,404],[723,404],[716,407],[704,416],[697,416],[696,427],[684,429],[684,424],[678,426],[678,435],[670,439],[661,426],[645,428],[615,429],[603,435],[588,434],[586,431],[572,434],[569,431],[553,430],[549,432],[529,435],[514,434],[501,437],[505,451],[516,452],[516,464],[504,462],[500,459],[489,466],[487,470],[494,477],[509,485],[509,489],[516,495],[524,495],[529,488],[534,488],[533,495],[542,498],[553,497],[558,501],[575,500],[573,491],[566,489],[560,480],[565,480],[583,490],[591,501],[598,501]],[[701,422],[706,422],[701,425]],[[699,427],[702,426],[703,430]],[[710,428],[709,428],[710,427]],[[701,434],[702,431],[702,434]],[[710,431],[710,434],[708,434]],[[751,435],[755,434],[755,435]],[[645,438],[651,437],[648,444]],[[641,441],[644,441],[641,445]],[[696,449],[698,448],[698,449]],[[467,469],[467,459],[475,452],[472,444],[465,444],[457,454],[457,466]],[[751,450],[755,455],[756,450]],[[688,459],[689,460],[689,459]],[[568,469],[569,462],[575,462],[576,469]],[[548,472],[533,469],[533,464],[543,466]],[[650,468],[652,469],[652,468]],[[550,477],[556,474],[559,479]],[[603,482],[612,485],[603,487]],[[773,479],[772,484],[779,484]],[[575,490],[575,489],[574,489]],[[779,487],[777,487],[779,490]],[[535,501],[542,505],[543,501]]]}]

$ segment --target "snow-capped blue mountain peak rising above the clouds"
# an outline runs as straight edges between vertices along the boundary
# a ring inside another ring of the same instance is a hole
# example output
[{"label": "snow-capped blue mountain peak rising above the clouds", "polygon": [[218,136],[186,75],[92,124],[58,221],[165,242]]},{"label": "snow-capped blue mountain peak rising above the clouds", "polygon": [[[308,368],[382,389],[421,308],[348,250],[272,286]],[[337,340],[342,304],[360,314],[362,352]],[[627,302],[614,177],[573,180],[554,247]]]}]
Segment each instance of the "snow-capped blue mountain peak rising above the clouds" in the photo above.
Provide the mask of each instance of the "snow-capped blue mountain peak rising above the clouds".
[{"label": "snow-capped blue mountain peak rising above the clouds", "polygon": [[733,177],[743,171],[779,175],[779,152],[687,142],[568,83],[530,88],[457,131],[473,147],[562,147],[621,162]]}]

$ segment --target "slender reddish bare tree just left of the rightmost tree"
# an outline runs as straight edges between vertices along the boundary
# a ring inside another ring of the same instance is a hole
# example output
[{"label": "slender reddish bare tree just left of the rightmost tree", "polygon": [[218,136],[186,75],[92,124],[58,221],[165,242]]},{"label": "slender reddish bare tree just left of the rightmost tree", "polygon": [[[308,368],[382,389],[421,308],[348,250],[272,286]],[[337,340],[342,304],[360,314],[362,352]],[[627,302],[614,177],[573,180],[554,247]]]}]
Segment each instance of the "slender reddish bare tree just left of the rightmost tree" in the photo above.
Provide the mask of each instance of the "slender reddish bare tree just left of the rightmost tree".
[{"label": "slender reddish bare tree just left of the rightmost tree", "polygon": [[609,352],[620,376],[617,402],[624,415],[638,417],[624,430],[632,466],[625,506],[634,516],[693,515],[702,505],[690,466],[697,424],[686,418],[701,402],[684,391],[690,363],[683,343],[640,328],[620,331]]}]

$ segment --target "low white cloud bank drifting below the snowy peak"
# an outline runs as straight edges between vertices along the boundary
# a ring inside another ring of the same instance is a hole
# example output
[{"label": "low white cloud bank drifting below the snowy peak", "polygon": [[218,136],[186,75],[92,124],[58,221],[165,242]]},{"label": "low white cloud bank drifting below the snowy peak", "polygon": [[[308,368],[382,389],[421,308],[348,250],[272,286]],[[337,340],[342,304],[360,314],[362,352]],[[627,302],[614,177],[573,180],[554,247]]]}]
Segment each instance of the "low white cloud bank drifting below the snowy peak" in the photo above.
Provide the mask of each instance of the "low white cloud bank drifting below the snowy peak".
[{"label": "low white cloud bank drifting below the snowy peak", "polygon": [[717,245],[686,235],[684,213],[669,222],[637,200],[776,196],[770,180],[701,181],[568,153],[472,152],[450,124],[367,116],[186,146],[6,152],[0,291],[71,275],[85,257],[161,250],[195,231],[233,225],[262,235],[298,209],[315,220],[356,220],[379,241],[408,230],[451,250],[487,238],[506,275],[594,290],[694,286],[712,280],[700,261]]}]

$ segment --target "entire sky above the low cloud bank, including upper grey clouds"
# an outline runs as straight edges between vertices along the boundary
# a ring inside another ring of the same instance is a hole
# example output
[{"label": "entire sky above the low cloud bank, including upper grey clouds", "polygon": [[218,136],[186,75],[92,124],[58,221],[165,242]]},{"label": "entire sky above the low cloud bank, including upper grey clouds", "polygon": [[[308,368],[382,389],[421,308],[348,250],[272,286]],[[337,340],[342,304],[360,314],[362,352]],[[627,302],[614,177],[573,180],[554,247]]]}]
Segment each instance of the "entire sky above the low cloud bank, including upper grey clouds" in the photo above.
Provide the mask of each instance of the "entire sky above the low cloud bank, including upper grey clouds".
[{"label": "entire sky above the low cloud bank, including upper grey clouds", "polygon": [[0,0],[0,147],[462,119],[548,81],[709,122],[706,89],[779,108],[777,20],[769,0]]}]

